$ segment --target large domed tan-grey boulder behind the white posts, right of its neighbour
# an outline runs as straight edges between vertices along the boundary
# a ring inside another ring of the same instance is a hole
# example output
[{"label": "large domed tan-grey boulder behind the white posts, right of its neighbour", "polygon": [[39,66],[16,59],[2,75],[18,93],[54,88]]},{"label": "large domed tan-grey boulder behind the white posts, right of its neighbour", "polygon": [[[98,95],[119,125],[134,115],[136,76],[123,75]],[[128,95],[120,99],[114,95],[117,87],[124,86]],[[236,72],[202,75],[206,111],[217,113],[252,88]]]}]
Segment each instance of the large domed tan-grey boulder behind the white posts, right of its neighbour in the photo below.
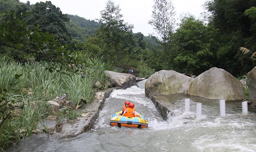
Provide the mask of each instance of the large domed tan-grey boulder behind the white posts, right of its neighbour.
[{"label": "large domed tan-grey boulder behind the white posts, right of its neighbour", "polygon": [[243,84],[221,68],[211,68],[197,76],[190,84],[188,94],[219,100],[243,100]]}]

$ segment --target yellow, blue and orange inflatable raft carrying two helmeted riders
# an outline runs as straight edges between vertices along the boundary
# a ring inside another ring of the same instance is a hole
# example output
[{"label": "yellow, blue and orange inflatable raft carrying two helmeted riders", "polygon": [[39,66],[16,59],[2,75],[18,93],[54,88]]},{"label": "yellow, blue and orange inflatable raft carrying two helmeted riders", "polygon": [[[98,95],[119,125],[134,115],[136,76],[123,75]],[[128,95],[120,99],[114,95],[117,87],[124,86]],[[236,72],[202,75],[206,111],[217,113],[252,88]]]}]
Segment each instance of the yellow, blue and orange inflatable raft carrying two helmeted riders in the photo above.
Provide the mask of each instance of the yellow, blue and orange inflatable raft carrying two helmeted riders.
[{"label": "yellow, blue and orange inflatable raft carrying two helmeted riders", "polygon": [[118,127],[136,127],[136,128],[148,128],[148,121],[144,116],[141,116],[139,113],[139,117],[127,117],[127,116],[120,116],[120,112],[116,112],[112,115],[110,119],[111,126],[118,126]]}]

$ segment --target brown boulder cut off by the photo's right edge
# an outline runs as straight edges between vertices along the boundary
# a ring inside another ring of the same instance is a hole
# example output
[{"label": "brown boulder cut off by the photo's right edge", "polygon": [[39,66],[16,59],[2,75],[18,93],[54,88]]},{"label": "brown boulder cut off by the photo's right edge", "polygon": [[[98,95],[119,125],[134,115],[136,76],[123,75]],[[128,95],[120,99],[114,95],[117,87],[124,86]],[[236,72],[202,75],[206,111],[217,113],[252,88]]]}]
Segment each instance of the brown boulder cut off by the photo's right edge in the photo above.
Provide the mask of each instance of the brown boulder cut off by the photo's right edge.
[{"label": "brown boulder cut off by the photo's right edge", "polygon": [[256,105],[256,67],[248,73],[246,84],[249,89],[250,99]]}]

